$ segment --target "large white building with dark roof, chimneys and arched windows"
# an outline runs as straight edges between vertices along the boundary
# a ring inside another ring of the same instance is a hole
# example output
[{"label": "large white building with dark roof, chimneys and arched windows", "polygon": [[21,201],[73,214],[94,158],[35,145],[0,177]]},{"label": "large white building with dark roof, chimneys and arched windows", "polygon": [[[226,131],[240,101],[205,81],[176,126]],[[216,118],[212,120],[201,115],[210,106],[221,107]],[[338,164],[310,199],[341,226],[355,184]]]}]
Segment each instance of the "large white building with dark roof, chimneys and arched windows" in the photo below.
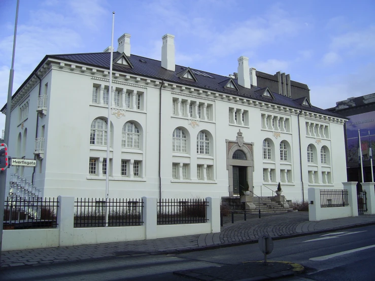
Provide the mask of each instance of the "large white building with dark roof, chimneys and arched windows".
[{"label": "large white building with dark roof, chimneys and arched windows", "polygon": [[281,182],[287,199],[343,187],[344,117],[260,89],[244,56],[238,79],[175,65],[174,36],[162,40],[160,62],[130,55],[130,35],[119,38],[111,101],[108,48],[45,56],[13,95],[9,141],[10,156],[38,166],[8,173],[47,197],[105,197],[110,127],[111,198],[221,197],[246,181],[259,196]]}]

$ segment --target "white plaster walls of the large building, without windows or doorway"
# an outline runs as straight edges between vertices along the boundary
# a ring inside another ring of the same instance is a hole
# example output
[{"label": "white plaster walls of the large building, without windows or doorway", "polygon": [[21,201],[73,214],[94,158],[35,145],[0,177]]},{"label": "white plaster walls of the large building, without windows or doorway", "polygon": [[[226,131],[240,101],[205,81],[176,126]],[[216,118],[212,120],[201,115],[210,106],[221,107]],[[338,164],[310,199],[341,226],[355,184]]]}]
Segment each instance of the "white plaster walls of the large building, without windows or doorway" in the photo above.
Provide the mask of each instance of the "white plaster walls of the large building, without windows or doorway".
[{"label": "white plaster walls of the large building, without windows or doorway", "polygon": [[[46,57],[36,73],[42,79],[41,90],[38,78],[31,75],[12,102],[10,156],[34,158],[36,138],[44,138],[43,148],[37,147],[39,161],[34,175],[34,183],[43,188],[44,196],[105,197],[106,176],[101,172],[101,166],[106,158],[106,146],[90,144],[90,127],[96,118],[107,120],[108,105],[104,104],[103,94],[104,89],[109,88],[108,69]],[[250,75],[246,79],[250,80]],[[253,191],[259,196],[261,185],[276,190],[277,183],[281,182],[287,200],[302,199],[302,189],[307,199],[309,187],[342,188],[342,182],[347,179],[344,118],[332,117],[328,112],[314,113],[309,107],[280,106],[272,99],[264,102],[207,88],[163,83],[161,79],[126,72],[114,71],[112,85],[114,91],[120,92],[120,100],[116,106],[112,95],[110,102],[113,112],[111,198],[159,197],[160,88],[162,198],[230,195],[226,139],[234,140],[239,129],[245,142],[254,143]],[[96,102],[93,102],[93,87],[98,89]],[[40,98],[39,92],[46,97]],[[130,93],[130,108],[126,108],[126,93]],[[27,111],[21,113],[26,101]],[[193,104],[193,116],[189,116],[189,104]],[[201,118],[197,114],[199,107]],[[122,128],[127,122],[137,125],[140,130],[139,149],[122,147]],[[172,151],[176,128],[181,128],[187,136],[186,153]],[[208,155],[197,154],[200,131],[209,137]],[[265,139],[271,147],[270,159],[263,159]],[[282,141],[287,147],[287,161],[280,158]],[[314,153],[311,163],[308,162],[309,145]],[[323,146],[327,163],[321,161]],[[95,175],[89,174],[90,158],[97,159]],[[121,174],[122,160],[128,161],[126,176]],[[132,172],[134,161],[140,164],[138,177]],[[173,171],[173,163],[176,171]],[[197,165],[201,165],[200,179],[197,179]],[[210,179],[207,179],[207,168]],[[15,172],[31,181],[32,168],[8,169],[8,175]],[[263,188],[264,195],[271,195],[270,191],[267,194],[266,188]]]}]

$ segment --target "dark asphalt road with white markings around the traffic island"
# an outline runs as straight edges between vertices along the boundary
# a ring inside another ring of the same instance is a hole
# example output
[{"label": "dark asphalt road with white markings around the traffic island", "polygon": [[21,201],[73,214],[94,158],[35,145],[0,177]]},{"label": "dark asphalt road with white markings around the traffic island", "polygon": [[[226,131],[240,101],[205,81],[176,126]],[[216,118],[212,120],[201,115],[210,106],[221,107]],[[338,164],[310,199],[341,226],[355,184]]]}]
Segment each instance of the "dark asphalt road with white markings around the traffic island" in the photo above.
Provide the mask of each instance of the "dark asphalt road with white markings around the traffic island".
[{"label": "dark asphalt road with white markings around the traffic island", "polygon": [[[285,280],[374,280],[375,226],[274,241],[269,260],[304,265]],[[0,270],[0,280],[190,280],[173,271],[262,260],[258,244],[165,255],[134,255]]]}]

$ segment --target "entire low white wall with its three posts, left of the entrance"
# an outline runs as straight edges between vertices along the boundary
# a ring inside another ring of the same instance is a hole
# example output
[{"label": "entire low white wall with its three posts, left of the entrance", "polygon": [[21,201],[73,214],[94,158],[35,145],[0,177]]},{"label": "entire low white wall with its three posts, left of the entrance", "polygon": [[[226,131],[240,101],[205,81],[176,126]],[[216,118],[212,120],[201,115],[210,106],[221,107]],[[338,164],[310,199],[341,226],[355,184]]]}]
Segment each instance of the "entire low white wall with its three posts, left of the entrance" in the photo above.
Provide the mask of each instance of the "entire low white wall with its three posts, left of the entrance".
[{"label": "entire low white wall with its three posts, left of the entrance", "polygon": [[142,226],[74,227],[74,198],[58,197],[56,229],[4,230],[3,251],[69,247],[220,232],[220,200],[208,197],[207,223],[157,225],[157,199],[143,197]]}]

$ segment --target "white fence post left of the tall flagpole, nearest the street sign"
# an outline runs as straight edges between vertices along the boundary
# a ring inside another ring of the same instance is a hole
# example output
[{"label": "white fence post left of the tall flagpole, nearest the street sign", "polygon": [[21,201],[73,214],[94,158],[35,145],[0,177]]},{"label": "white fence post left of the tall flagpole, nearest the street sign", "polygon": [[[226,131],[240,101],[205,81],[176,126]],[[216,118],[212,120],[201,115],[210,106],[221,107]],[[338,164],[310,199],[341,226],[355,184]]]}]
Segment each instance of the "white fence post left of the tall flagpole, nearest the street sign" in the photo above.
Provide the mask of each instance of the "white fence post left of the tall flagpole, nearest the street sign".
[{"label": "white fence post left of the tall flagpole, nearest the street sign", "polygon": [[58,196],[57,227],[60,232],[59,246],[73,246],[74,197]]}]

